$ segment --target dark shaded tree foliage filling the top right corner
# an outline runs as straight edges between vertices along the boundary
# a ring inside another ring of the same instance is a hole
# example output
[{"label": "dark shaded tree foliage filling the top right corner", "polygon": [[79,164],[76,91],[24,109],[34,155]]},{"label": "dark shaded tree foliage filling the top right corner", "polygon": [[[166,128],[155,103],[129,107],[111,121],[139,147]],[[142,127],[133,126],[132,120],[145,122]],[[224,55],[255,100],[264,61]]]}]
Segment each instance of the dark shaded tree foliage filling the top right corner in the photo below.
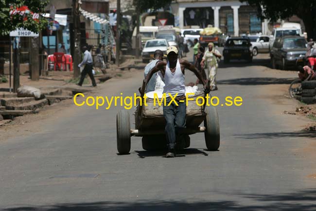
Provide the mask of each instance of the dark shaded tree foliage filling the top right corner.
[{"label": "dark shaded tree foliage filling the top right corner", "polygon": [[293,15],[302,19],[309,38],[316,37],[316,0],[240,0],[256,6],[261,19],[288,19]]}]

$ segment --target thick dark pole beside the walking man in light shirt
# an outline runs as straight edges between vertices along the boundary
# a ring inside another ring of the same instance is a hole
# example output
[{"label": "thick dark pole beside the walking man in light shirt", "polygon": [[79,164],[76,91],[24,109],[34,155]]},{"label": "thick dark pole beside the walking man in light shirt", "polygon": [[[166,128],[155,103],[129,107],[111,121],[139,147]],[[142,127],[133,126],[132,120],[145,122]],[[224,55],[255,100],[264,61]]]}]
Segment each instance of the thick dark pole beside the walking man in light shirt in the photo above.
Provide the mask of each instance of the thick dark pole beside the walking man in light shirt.
[{"label": "thick dark pole beside the walking man in light shirt", "polygon": [[80,34],[80,11],[78,0],[72,0],[72,25],[74,36],[74,53],[73,53],[73,77],[80,76],[80,69],[78,64],[81,60],[81,34]]}]

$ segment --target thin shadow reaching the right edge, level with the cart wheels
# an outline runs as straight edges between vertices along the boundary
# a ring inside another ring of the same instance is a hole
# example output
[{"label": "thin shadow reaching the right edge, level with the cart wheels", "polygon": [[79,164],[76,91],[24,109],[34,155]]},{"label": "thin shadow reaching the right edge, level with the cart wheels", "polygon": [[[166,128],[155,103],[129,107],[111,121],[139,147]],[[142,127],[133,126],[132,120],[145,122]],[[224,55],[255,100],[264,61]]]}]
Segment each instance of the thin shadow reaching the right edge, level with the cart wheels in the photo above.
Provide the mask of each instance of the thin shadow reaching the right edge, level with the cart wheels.
[{"label": "thin shadow reaching the right edge, level with the cart wheels", "polygon": [[257,139],[257,138],[283,138],[283,137],[299,137],[299,138],[316,138],[315,131],[298,131],[298,132],[275,132],[275,133],[256,133],[256,134],[235,134],[237,138]]}]

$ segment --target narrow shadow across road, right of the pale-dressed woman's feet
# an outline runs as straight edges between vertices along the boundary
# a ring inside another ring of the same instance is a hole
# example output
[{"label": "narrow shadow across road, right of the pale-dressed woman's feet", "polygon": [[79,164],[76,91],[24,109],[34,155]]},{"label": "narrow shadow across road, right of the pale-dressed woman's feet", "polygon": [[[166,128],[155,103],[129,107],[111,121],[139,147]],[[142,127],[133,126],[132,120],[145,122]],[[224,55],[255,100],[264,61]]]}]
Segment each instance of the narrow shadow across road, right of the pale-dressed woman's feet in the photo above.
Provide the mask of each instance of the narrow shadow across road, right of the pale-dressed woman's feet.
[{"label": "narrow shadow across road, right of the pale-dressed woman's feet", "polygon": [[218,80],[218,84],[224,85],[269,85],[269,84],[291,84],[295,78],[276,77],[245,77],[228,80]]}]

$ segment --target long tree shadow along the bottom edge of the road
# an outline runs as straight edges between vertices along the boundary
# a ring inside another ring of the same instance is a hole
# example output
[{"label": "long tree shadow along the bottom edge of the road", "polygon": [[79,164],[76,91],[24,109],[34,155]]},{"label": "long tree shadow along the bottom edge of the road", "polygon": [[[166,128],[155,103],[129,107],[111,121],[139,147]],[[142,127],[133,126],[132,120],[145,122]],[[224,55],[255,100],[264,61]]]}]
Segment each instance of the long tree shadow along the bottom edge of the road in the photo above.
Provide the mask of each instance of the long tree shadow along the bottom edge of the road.
[{"label": "long tree shadow along the bottom edge of the road", "polygon": [[[211,198],[210,192],[210,198]],[[236,194],[235,194],[236,195]],[[101,201],[92,203],[56,204],[40,207],[17,207],[1,211],[315,211],[316,190],[281,195],[237,194],[253,200],[250,205],[231,200],[221,201],[149,201],[135,203]]]}]

